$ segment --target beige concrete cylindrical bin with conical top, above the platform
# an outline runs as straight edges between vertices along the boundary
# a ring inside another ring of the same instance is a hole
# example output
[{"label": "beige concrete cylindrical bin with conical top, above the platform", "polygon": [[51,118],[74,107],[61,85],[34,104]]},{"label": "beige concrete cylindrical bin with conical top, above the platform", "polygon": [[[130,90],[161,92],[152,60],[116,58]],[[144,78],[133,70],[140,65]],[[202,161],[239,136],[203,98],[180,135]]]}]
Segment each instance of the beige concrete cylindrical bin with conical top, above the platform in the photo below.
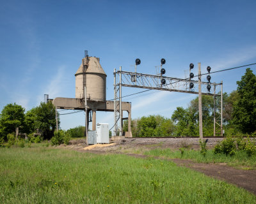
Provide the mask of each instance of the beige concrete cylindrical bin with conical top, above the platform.
[{"label": "beige concrete cylindrical bin with conical top, above the platform", "polygon": [[[86,57],[77,69],[76,98],[83,98],[83,69]],[[100,66],[98,57],[88,57],[87,69],[85,69],[86,98],[92,101],[106,101],[106,73]]]}]

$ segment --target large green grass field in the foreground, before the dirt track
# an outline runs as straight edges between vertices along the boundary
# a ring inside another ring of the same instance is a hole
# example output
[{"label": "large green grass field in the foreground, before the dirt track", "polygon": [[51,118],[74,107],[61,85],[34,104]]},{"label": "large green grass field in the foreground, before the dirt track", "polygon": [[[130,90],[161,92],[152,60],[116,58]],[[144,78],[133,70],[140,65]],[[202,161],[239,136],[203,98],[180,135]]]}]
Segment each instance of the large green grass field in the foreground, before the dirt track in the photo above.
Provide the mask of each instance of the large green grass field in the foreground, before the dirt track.
[{"label": "large green grass field in the foreground, before the dirt track", "polygon": [[170,161],[53,147],[0,149],[0,203],[256,203]]}]

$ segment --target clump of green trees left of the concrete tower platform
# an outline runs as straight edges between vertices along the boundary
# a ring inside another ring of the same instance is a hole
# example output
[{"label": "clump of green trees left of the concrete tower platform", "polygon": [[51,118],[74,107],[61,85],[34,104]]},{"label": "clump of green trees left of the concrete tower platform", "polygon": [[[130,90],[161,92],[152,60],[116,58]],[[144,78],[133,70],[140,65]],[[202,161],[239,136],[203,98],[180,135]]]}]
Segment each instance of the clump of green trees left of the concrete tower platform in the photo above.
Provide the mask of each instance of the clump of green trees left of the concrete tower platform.
[{"label": "clump of green trees left of the concrete tower platform", "polygon": [[[60,125],[60,117],[58,124]],[[25,113],[25,108],[16,103],[4,106],[0,115],[0,142],[8,140],[7,135],[15,133],[19,128],[20,133],[27,135],[41,133],[42,139],[49,140],[56,129],[56,109],[52,103],[40,103],[39,106],[31,108]]]}]

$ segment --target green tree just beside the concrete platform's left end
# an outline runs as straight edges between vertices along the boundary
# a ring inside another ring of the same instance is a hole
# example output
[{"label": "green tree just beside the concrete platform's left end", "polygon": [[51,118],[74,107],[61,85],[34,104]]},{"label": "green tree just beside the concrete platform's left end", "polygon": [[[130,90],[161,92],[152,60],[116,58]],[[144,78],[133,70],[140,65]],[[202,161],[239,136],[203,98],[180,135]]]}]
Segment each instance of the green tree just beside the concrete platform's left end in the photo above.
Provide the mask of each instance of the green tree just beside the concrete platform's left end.
[{"label": "green tree just beside the concrete platform's left end", "polygon": [[[60,126],[60,116],[58,115],[58,126]],[[52,103],[40,103],[35,108],[35,128],[42,131],[44,139],[51,139],[56,129],[56,109]]]}]

